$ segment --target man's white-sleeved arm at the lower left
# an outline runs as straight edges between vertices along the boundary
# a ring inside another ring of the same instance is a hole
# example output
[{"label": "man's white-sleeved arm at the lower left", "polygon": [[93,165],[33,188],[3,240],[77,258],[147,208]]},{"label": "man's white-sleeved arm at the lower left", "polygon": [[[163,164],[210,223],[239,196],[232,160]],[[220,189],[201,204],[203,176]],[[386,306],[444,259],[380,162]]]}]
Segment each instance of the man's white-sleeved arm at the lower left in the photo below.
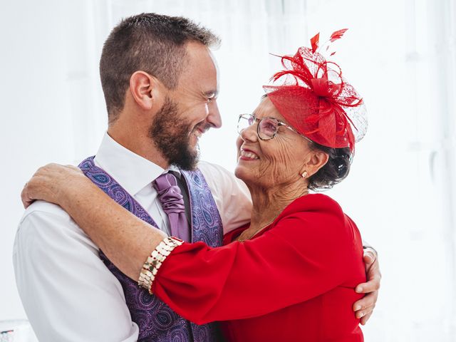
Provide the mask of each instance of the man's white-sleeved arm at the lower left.
[{"label": "man's white-sleeved arm at the lower left", "polygon": [[16,283],[40,341],[137,341],[123,289],[60,207],[33,204],[14,244]]}]

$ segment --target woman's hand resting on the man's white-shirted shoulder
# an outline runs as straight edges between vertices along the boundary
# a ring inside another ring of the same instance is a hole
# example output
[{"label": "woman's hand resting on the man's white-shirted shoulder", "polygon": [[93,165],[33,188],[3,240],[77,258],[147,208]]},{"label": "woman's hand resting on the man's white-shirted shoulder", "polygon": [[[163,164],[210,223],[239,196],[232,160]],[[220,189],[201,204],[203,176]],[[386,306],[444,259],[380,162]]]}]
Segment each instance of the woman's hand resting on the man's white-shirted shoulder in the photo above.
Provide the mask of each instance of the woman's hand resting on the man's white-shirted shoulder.
[{"label": "woman's hand resting on the man's white-shirted shoulder", "polygon": [[48,164],[35,172],[21,192],[22,204],[28,207],[36,199],[61,205],[72,189],[92,184],[83,172],[71,165]]}]

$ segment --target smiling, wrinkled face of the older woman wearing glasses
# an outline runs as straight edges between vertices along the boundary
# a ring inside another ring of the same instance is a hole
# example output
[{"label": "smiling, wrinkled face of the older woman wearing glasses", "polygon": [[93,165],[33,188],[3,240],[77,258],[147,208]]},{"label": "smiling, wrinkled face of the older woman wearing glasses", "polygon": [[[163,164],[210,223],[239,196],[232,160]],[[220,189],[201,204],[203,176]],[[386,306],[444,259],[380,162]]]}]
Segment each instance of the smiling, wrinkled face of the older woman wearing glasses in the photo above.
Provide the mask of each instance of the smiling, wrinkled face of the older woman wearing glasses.
[{"label": "smiling, wrinkled face of the older woman wearing glasses", "polygon": [[[269,98],[264,98],[252,115],[257,119],[276,118],[286,123]],[[247,185],[272,187],[302,180],[306,162],[311,158],[309,142],[298,133],[279,126],[274,138],[261,140],[257,135],[258,121],[242,130],[237,138],[235,175]]]}]

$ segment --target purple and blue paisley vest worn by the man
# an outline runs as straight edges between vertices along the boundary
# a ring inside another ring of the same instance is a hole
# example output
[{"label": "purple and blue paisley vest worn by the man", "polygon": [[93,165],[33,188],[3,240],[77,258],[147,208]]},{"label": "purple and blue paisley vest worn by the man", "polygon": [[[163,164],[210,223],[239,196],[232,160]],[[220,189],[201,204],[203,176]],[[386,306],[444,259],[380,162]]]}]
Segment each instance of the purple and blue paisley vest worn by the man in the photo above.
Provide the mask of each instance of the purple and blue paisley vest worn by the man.
[{"label": "purple and blue paisley vest worn by the man", "polygon": [[[148,224],[157,227],[145,209],[113,177],[100,167],[95,166],[93,158],[88,157],[79,165],[84,174],[115,202]],[[221,246],[222,219],[206,180],[199,170],[180,170],[180,172],[185,177],[190,195],[192,242],[202,241],[211,247]],[[151,296],[148,291],[140,288],[136,281],[120,272],[101,251],[100,258],[122,284],[131,318],[139,326],[139,342],[222,341],[217,323],[198,326],[185,320],[185,318],[175,314],[169,306],[156,296]]]}]

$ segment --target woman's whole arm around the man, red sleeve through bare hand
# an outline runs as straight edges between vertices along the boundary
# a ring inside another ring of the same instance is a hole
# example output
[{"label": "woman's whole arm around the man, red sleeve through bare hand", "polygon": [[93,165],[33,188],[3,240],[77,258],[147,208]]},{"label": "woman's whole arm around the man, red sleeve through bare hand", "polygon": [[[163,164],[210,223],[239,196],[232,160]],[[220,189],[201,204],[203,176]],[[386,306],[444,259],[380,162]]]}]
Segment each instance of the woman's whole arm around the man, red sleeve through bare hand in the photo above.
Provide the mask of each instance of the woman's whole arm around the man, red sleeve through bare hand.
[{"label": "woman's whole arm around the man, red sleeve through bare hand", "polygon": [[[51,166],[51,173],[57,172],[52,182],[40,180],[48,175],[38,171],[40,177],[26,187],[25,200],[61,204],[110,261],[137,280],[164,235],[116,204],[79,170],[59,168]],[[46,198],[33,192],[40,182],[51,189]],[[245,243],[219,248],[184,243],[165,259],[152,291],[177,314],[199,324],[261,316],[323,294],[343,283],[351,272],[347,265],[361,267],[363,275],[361,241],[359,260],[353,262],[351,234],[346,234],[341,215],[329,211],[281,219],[274,229]]]}]

